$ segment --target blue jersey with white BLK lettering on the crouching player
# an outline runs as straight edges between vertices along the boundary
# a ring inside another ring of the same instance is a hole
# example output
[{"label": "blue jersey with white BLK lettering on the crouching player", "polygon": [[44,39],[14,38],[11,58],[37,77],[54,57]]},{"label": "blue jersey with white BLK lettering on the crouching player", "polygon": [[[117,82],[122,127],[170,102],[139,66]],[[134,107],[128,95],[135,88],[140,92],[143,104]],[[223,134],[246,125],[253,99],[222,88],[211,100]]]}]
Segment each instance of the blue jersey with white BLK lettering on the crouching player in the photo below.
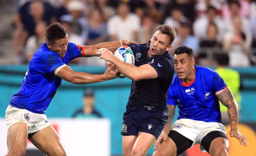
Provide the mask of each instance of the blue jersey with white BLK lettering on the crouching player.
[{"label": "blue jersey with white BLK lettering on the crouching player", "polygon": [[220,104],[215,93],[227,85],[216,71],[200,66],[195,68],[196,77],[188,84],[182,83],[174,75],[167,93],[167,104],[178,105],[178,119],[222,123]]}]

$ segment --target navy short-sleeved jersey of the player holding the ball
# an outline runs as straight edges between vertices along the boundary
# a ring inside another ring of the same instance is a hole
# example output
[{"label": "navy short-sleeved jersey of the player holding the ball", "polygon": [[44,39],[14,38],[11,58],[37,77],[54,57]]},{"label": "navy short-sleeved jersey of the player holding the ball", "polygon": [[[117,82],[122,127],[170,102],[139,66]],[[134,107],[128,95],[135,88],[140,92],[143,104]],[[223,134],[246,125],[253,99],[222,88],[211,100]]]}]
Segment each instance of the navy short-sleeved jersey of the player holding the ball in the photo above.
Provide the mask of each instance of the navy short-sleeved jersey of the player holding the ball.
[{"label": "navy short-sleeved jersey of the player holding the ball", "polygon": [[148,57],[147,51],[150,41],[144,44],[132,44],[137,67],[149,64],[156,72],[158,77],[155,79],[145,79],[132,81],[131,92],[128,104],[146,111],[161,111],[167,108],[167,91],[174,75],[174,64],[171,55],[166,51],[156,57]]}]

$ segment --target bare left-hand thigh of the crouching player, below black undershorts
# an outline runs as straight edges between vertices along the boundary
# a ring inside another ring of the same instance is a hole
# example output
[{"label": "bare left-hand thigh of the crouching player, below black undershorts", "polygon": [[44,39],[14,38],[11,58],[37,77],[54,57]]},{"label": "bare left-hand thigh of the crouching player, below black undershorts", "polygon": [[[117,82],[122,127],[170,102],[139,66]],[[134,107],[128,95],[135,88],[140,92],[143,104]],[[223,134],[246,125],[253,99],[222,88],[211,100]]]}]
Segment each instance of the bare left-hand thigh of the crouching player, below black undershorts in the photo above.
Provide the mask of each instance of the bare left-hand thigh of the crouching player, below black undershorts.
[{"label": "bare left-hand thigh of the crouching player, below black undershorts", "polygon": [[174,141],[168,137],[153,153],[153,156],[176,156],[177,148]]}]

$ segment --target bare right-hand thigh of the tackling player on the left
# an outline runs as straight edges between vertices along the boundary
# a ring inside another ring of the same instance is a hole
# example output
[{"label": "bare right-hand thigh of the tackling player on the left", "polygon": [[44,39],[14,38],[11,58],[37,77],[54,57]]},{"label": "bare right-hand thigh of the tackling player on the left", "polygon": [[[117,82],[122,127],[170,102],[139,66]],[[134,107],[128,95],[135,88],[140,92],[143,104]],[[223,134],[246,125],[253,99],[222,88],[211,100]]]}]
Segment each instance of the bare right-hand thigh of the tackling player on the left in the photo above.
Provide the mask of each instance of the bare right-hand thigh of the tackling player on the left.
[{"label": "bare right-hand thigh of the tackling player on the left", "polygon": [[60,137],[52,125],[36,132],[30,141],[48,156],[66,156]]}]

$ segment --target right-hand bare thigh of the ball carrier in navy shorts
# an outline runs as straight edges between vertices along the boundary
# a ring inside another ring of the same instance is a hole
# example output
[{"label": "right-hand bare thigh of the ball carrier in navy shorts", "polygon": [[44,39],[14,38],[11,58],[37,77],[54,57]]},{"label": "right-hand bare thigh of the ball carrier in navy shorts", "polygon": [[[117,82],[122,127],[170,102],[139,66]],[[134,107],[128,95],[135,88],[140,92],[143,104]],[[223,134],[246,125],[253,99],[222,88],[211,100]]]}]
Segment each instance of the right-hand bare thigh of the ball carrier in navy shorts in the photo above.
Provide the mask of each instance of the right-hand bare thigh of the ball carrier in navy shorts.
[{"label": "right-hand bare thigh of the ball carrier in navy shorts", "polygon": [[152,134],[139,132],[138,138],[132,148],[132,155],[144,156],[148,150],[153,146],[156,137]]}]

